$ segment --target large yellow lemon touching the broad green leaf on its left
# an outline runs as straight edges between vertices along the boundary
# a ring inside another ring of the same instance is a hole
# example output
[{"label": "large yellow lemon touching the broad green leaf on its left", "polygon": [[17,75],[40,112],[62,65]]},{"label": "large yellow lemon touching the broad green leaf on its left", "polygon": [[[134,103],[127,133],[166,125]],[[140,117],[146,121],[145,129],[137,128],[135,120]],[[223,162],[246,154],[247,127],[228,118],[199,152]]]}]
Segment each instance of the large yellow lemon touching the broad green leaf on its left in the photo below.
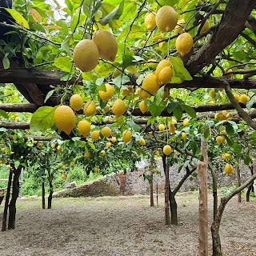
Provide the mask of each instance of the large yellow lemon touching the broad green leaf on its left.
[{"label": "large yellow lemon touching the broad green leaf on its left", "polygon": [[71,130],[75,126],[74,111],[70,106],[58,106],[54,111],[54,123],[58,130],[64,131],[66,134],[70,134]]}]

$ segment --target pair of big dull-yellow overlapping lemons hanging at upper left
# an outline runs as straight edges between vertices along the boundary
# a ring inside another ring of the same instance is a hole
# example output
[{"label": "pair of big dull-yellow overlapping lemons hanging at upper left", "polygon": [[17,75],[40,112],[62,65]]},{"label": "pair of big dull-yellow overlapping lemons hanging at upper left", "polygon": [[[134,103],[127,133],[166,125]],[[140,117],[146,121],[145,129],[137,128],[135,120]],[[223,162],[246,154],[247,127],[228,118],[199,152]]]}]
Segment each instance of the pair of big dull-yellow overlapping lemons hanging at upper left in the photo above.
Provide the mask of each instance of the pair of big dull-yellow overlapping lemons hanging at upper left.
[{"label": "pair of big dull-yellow overlapping lemons hanging at upper left", "polygon": [[74,64],[83,72],[94,70],[99,58],[114,62],[118,42],[107,30],[97,30],[92,40],[83,39],[74,47]]}]

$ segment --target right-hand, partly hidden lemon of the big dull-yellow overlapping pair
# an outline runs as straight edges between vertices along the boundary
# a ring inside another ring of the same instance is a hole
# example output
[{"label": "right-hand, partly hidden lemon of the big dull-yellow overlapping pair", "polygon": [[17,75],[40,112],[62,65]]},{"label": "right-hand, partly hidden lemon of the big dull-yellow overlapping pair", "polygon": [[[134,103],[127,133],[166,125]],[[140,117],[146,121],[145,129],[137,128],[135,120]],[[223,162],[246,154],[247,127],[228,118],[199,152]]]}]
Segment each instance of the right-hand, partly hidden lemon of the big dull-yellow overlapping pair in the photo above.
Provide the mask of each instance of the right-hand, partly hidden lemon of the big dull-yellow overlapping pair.
[{"label": "right-hand, partly hidden lemon of the big dull-yellow overlapping pair", "polygon": [[92,40],[98,47],[99,57],[114,62],[115,55],[118,53],[118,42],[114,34],[106,30],[97,30]]}]

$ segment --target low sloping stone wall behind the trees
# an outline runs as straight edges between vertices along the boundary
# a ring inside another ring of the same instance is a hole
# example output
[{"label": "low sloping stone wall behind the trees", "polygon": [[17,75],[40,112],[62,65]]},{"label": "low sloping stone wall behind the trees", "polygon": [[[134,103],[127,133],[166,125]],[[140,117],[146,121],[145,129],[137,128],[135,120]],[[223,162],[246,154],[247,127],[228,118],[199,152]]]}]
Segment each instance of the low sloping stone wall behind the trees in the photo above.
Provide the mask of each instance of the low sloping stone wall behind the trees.
[{"label": "low sloping stone wall behind the trees", "polygon": [[[108,174],[103,178],[98,178],[95,181],[87,182],[85,184],[76,186],[72,189],[61,190],[54,194],[55,197],[96,197],[96,196],[114,196],[114,195],[128,195],[128,194],[148,194],[150,185],[147,180],[144,180],[143,174],[150,174],[146,171],[145,162],[143,168],[138,168],[133,172],[128,171],[126,174],[119,172],[117,174]],[[162,192],[165,186],[164,172],[162,168],[162,161],[157,162],[156,170],[160,174],[154,174],[154,192],[158,187],[158,191]],[[197,171],[195,171],[197,173]],[[174,189],[178,182],[186,174],[186,170],[178,172],[178,166],[170,167],[170,186]],[[208,185],[211,186],[211,175],[209,171]],[[246,166],[241,167],[242,182],[250,177],[250,170]],[[236,182],[236,175],[226,175],[217,171],[218,187],[231,186]],[[198,177],[193,180],[187,178],[183,183],[180,191],[198,190]]]}]

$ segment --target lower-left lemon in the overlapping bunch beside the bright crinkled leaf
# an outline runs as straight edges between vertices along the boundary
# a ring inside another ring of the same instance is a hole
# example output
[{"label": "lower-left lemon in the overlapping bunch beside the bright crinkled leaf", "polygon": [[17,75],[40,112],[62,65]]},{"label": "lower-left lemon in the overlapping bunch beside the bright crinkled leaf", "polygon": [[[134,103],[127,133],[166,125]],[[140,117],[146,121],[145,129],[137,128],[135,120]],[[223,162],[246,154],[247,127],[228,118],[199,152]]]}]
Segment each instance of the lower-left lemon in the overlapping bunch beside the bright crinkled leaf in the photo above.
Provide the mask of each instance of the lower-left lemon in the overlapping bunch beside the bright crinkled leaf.
[{"label": "lower-left lemon in the overlapping bunch beside the bright crinkled leaf", "polygon": [[156,94],[159,89],[158,78],[154,73],[146,75],[142,82],[142,89],[140,90],[140,97],[143,99],[149,98]]}]

